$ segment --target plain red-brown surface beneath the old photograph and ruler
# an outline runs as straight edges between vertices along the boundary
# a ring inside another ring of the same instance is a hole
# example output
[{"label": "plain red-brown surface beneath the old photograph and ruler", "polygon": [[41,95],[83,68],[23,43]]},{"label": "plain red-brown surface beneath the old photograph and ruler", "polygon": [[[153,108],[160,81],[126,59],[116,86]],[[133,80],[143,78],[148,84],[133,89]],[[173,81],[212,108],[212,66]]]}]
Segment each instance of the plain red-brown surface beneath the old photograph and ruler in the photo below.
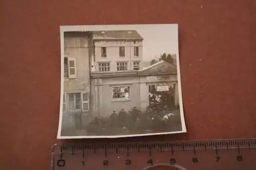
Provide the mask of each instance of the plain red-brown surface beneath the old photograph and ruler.
[{"label": "plain red-brown surface beneath the old photograph and ruler", "polygon": [[49,169],[53,143],[97,141],[56,139],[60,25],[179,24],[188,133],[130,141],[255,137],[255,7],[254,0],[1,1],[0,169]]}]

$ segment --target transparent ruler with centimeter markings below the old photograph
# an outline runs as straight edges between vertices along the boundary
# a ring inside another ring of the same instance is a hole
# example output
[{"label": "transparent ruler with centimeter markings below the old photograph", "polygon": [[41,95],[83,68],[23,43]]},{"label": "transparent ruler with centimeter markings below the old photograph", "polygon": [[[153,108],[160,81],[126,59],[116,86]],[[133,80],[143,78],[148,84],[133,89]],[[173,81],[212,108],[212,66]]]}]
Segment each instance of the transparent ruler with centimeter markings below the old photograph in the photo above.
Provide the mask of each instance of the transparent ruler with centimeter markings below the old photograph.
[{"label": "transparent ruler with centimeter markings below the old photograph", "polygon": [[52,170],[255,169],[256,139],[62,143]]}]

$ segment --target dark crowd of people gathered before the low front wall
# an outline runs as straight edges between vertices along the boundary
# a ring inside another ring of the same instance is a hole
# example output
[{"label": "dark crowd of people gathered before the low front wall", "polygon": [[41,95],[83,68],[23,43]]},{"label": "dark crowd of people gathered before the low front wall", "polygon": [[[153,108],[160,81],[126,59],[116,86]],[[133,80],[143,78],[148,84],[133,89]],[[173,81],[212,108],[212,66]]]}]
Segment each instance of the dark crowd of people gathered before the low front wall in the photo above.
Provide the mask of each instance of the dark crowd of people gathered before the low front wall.
[{"label": "dark crowd of people gathered before the low front wall", "polygon": [[172,126],[172,117],[174,116],[169,112],[167,105],[164,107],[149,106],[143,113],[137,107],[133,107],[130,111],[124,109],[119,112],[113,111],[108,118],[96,117],[89,130],[103,135],[167,132]]}]

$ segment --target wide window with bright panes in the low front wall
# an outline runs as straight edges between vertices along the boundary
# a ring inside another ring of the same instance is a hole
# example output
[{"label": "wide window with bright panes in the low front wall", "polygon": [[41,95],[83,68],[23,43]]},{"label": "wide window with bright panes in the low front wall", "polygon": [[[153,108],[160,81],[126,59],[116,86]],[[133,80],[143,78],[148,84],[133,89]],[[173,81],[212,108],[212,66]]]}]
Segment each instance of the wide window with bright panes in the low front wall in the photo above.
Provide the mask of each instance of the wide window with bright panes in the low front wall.
[{"label": "wide window with bright panes in the low front wall", "polygon": [[130,86],[112,87],[112,99],[130,99]]}]

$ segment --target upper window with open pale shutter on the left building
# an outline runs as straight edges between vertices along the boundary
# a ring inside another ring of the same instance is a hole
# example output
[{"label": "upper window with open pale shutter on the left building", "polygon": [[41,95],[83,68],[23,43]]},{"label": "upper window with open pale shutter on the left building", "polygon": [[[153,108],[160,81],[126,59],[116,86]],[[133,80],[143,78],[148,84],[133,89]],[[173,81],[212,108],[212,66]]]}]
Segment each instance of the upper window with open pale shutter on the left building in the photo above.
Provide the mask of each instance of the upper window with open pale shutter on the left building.
[{"label": "upper window with open pale shutter on the left building", "polygon": [[64,77],[77,78],[76,59],[74,57],[64,57]]}]

